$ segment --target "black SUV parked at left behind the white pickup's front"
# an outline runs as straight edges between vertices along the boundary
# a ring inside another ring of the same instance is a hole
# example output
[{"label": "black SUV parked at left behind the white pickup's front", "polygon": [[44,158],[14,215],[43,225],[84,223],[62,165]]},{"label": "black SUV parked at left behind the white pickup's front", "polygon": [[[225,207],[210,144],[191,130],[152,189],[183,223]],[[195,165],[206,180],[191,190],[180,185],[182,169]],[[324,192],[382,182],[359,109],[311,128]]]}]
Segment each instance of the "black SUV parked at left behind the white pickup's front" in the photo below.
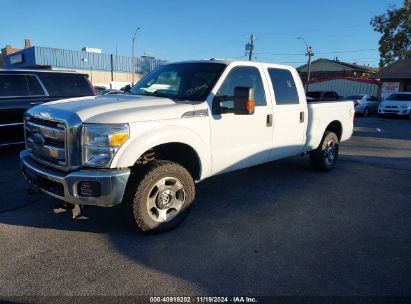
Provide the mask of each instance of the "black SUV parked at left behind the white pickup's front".
[{"label": "black SUV parked at left behind the white pickup's front", "polygon": [[97,95],[86,74],[0,69],[0,147],[24,143],[23,114],[34,105]]}]

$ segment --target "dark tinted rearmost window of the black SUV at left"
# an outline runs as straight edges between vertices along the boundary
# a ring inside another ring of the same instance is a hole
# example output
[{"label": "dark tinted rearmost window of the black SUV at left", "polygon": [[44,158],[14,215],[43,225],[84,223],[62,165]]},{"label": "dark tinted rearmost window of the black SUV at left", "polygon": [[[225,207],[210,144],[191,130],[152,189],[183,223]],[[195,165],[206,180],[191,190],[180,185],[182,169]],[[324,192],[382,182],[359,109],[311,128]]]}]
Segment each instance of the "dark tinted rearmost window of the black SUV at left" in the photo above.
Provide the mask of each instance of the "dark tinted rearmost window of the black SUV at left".
[{"label": "dark tinted rearmost window of the black SUV at left", "polygon": [[80,97],[94,95],[93,89],[84,75],[42,73],[38,76],[50,96]]}]

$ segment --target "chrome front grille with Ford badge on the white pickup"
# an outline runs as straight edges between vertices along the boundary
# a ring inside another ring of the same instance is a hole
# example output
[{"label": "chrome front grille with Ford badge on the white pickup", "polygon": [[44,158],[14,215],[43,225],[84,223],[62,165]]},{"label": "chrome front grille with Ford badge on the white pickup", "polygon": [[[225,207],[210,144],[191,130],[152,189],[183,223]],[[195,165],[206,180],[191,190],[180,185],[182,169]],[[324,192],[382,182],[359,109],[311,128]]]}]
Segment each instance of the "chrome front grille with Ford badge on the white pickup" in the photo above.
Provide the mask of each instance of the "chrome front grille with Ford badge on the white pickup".
[{"label": "chrome front grille with Ford badge on the white pickup", "polygon": [[55,166],[67,166],[66,126],[49,119],[27,116],[26,145],[32,156]]}]

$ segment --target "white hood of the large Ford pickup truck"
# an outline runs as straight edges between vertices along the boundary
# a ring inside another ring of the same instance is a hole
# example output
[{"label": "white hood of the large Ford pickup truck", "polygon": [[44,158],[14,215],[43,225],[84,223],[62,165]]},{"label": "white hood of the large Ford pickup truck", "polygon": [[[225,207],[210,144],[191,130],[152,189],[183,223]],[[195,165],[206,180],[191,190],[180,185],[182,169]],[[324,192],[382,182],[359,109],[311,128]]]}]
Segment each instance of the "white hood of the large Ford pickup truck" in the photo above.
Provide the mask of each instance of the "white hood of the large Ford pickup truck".
[{"label": "white hood of the large Ford pickup truck", "polygon": [[52,101],[33,110],[76,114],[87,123],[125,123],[181,118],[184,113],[193,111],[194,106],[163,97],[108,95]]}]

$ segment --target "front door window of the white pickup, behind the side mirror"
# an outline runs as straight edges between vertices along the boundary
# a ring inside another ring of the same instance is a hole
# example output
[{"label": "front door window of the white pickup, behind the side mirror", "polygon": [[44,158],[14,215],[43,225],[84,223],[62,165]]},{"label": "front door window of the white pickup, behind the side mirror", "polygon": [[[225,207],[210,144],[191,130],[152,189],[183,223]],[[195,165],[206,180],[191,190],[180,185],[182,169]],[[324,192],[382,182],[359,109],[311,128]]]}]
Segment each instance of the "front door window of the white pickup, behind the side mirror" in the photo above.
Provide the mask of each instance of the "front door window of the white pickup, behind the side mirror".
[{"label": "front door window of the white pickup, behind the side mirror", "polygon": [[264,86],[260,72],[255,67],[236,67],[230,71],[216,97],[221,97],[220,106],[223,113],[229,113],[234,108],[233,101],[224,100],[225,96],[234,96],[235,87],[250,87],[254,89],[255,106],[265,106]]}]

